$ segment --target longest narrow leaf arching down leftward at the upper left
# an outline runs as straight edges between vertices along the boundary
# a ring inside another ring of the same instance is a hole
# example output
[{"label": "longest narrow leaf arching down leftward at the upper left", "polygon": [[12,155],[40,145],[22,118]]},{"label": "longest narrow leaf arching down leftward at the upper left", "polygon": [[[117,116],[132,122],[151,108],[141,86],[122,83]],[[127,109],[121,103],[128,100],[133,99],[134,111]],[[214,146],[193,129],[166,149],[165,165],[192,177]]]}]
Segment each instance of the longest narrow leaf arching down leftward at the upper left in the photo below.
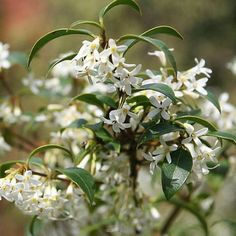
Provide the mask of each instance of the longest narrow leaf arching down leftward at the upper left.
[{"label": "longest narrow leaf arching down leftward at the upper left", "polygon": [[81,34],[81,35],[87,35],[87,36],[91,36],[94,37],[94,35],[92,34],[92,32],[88,31],[88,30],[84,30],[84,29],[67,29],[67,28],[62,28],[62,29],[57,29],[54,30],[52,32],[47,33],[46,35],[44,35],[43,37],[41,37],[33,46],[33,48],[31,49],[29,58],[28,58],[28,64],[27,66],[30,67],[31,61],[33,60],[33,58],[35,57],[35,55],[37,54],[37,52],[44,47],[48,42],[62,37],[62,36],[66,36],[66,35],[72,35],[72,34]]}]

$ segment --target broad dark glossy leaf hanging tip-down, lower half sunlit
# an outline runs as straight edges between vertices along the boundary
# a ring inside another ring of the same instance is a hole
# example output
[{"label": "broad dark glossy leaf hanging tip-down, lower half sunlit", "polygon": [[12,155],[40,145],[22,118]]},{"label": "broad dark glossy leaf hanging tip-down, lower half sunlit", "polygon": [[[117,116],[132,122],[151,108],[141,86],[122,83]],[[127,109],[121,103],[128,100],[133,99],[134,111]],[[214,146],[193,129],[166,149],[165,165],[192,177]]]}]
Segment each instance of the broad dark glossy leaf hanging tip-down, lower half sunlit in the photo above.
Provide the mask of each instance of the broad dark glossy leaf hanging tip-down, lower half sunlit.
[{"label": "broad dark glossy leaf hanging tip-down, lower half sunlit", "polygon": [[171,160],[161,167],[162,189],[168,200],[184,185],[193,165],[191,154],[182,148],[171,153]]}]

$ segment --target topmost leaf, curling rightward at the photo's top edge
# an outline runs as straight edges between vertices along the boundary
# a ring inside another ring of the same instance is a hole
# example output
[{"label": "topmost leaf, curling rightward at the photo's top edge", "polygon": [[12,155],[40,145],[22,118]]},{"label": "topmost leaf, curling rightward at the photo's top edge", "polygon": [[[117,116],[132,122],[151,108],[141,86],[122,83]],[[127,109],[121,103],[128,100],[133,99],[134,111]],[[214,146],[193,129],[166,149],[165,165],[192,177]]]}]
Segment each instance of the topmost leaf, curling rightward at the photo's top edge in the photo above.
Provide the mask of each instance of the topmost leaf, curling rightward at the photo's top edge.
[{"label": "topmost leaf, curling rightward at the photo's top edge", "polygon": [[137,12],[139,12],[139,14],[141,15],[141,9],[139,7],[139,5],[133,1],[133,0],[114,0],[112,1],[110,4],[108,4],[107,6],[105,6],[103,9],[101,9],[101,11],[99,12],[99,20],[102,21],[102,18],[114,7],[119,6],[119,5],[127,5],[132,7],[134,10],[136,10]]}]

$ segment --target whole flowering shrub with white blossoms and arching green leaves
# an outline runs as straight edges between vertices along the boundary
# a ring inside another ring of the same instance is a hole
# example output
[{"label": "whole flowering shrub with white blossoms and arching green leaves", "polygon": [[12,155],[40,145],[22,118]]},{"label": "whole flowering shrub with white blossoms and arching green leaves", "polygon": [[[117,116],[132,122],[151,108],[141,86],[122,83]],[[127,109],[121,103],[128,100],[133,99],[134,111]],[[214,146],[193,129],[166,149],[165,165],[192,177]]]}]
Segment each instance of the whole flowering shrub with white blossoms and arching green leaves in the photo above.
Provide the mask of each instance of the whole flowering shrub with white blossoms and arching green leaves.
[{"label": "whole flowering shrub with white blossoms and arching green leaves", "polygon": [[[236,124],[236,109],[226,94],[218,101],[207,90],[212,71],[203,59],[187,71],[177,70],[172,50],[156,38],[182,39],[174,28],[107,38],[104,17],[119,5],[141,13],[135,1],[115,0],[100,11],[98,22],[77,21],[35,43],[28,67],[50,41],[88,37],[79,52],[53,61],[45,80],[32,74],[23,79],[31,94],[49,100],[37,113],[11,102],[14,93],[3,73],[11,61],[7,45],[0,45],[1,82],[8,92],[0,105],[1,151],[12,145],[30,153],[25,160],[1,164],[0,199],[34,216],[28,235],[37,235],[36,226],[47,220],[67,220],[65,235],[164,235],[181,209],[195,215],[208,235],[201,202],[193,194],[218,167],[229,143],[236,143],[226,131]],[[99,33],[78,29],[87,25]],[[161,65],[155,71],[126,61],[126,53],[140,42],[153,47],[149,55]],[[22,135],[13,125],[24,130]],[[39,140],[44,145],[24,136],[42,127],[49,133],[47,141]],[[159,178],[163,191],[156,190]],[[176,207],[164,220],[160,202]]]}]

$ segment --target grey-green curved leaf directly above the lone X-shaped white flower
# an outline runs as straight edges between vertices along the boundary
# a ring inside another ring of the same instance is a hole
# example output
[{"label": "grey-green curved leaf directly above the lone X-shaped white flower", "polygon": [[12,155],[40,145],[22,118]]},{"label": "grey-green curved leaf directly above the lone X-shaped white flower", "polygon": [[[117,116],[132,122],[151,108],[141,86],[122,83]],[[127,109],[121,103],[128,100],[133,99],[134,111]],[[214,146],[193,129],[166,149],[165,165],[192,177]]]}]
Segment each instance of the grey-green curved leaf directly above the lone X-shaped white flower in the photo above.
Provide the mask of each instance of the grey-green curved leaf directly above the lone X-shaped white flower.
[{"label": "grey-green curved leaf directly above the lone X-shaped white flower", "polygon": [[173,102],[176,102],[176,97],[175,97],[174,91],[172,90],[171,87],[169,87],[166,84],[162,84],[162,83],[145,84],[145,85],[142,85],[140,88],[135,89],[134,92],[139,92],[139,91],[144,91],[144,90],[157,91],[159,93],[166,95]]}]

